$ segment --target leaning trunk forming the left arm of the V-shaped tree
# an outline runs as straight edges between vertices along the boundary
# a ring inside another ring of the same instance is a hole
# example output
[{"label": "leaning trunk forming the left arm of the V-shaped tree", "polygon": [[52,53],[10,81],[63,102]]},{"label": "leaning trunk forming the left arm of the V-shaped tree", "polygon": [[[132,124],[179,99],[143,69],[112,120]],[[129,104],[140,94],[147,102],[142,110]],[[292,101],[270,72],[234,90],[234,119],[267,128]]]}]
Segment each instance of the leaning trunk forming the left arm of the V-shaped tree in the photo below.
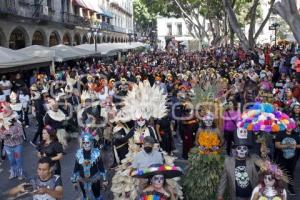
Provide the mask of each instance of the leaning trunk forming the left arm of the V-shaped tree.
[{"label": "leaning trunk forming the left arm of the V-shaped tree", "polygon": [[232,30],[234,31],[234,33],[236,33],[237,37],[239,38],[243,49],[245,49],[245,50],[250,49],[249,41],[246,38],[245,34],[243,33],[241,27],[239,26],[238,20],[237,20],[235,13],[231,7],[230,0],[223,0],[223,6],[228,15],[230,26],[231,26]]}]

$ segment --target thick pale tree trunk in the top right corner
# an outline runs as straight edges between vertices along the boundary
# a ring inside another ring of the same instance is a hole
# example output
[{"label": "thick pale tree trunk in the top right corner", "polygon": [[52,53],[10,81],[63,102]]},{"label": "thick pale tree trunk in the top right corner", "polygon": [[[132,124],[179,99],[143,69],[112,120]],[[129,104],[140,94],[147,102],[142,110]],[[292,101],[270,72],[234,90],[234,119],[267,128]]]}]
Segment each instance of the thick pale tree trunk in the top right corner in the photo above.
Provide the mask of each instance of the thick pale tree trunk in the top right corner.
[{"label": "thick pale tree trunk in the top right corner", "polygon": [[295,39],[300,44],[300,14],[296,0],[277,1],[274,5],[274,11],[289,25]]}]

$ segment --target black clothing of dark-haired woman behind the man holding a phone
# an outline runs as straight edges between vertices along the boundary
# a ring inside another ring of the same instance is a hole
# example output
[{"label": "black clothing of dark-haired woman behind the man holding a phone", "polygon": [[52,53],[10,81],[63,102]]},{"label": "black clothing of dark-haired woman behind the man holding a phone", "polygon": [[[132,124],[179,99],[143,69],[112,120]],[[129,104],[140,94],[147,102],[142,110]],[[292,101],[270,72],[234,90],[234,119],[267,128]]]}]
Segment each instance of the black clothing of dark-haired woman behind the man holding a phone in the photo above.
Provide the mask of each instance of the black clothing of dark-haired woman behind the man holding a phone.
[{"label": "black clothing of dark-haired woman behind the man holding a phone", "polygon": [[[46,145],[42,143],[37,146],[37,150],[43,156],[46,154],[47,157],[53,158],[60,153],[63,153],[63,147],[59,142],[51,142],[50,144]],[[52,161],[51,167],[54,168],[54,174],[61,175],[61,167],[59,160]]]}]

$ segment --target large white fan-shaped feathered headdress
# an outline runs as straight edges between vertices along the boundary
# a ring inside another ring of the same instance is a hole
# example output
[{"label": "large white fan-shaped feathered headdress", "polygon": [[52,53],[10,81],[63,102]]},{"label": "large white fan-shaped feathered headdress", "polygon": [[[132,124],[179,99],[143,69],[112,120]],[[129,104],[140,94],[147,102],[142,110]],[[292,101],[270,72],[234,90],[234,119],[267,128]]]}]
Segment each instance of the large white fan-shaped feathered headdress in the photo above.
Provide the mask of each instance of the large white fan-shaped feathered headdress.
[{"label": "large white fan-shaped feathered headdress", "polygon": [[163,95],[159,87],[151,87],[148,81],[134,84],[123,99],[124,106],[117,114],[116,121],[149,120],[151,117],[160,119],[167,114],[166,103],[167,95]]}]

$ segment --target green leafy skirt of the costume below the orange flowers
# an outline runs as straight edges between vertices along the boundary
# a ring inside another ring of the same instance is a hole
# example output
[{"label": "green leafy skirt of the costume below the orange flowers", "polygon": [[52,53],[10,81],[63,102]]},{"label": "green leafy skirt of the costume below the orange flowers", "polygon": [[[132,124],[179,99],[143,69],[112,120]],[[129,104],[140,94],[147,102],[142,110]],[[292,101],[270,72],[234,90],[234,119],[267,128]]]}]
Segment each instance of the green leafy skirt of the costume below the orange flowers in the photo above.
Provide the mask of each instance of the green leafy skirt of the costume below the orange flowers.
[{"label": "green leafy skirt of the costume below the orange flowers", "polygon": [[224,166],[224,156],[201,155],[197,147],[189,154],[189,168],[183,177],[183,191],[188,200],[216,199]]}]

